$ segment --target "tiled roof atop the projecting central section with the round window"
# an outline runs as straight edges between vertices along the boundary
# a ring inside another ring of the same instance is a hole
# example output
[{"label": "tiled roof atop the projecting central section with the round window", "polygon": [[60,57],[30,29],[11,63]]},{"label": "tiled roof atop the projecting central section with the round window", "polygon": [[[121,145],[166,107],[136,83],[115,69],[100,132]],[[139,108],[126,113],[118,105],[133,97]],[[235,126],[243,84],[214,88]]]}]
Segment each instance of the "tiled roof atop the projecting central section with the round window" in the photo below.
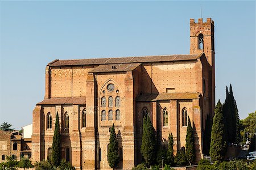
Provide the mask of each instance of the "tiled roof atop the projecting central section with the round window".
[{"label": "tiled roof atop the projecting central section with the round window", "polygon": [[118,71],[132,71],[136,69],[141,63],[119,63],[100,65],[90,71],[89,73],[102,73],[102,72],[118,72]]}]

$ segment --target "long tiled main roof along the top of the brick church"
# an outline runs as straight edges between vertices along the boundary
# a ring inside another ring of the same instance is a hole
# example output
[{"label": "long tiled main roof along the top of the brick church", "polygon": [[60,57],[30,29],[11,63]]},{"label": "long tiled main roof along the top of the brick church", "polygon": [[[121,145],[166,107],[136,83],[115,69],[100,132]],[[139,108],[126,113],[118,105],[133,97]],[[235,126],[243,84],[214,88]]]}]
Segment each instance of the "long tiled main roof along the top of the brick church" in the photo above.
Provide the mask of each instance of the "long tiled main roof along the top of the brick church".
[{"label": "long tiled main roof along the top of the brick church", "polygon": [[93,59],[56,59],[48,63],[48,66],[75,66],[75,65],[102,65],[118,63],[142,63],[142,62],[163,62],[163,61],[184,61],[195,60],[203,55],[165,55],[165,56],[142,56],[142,57],[118,57],[118,58],[93,58]]}]

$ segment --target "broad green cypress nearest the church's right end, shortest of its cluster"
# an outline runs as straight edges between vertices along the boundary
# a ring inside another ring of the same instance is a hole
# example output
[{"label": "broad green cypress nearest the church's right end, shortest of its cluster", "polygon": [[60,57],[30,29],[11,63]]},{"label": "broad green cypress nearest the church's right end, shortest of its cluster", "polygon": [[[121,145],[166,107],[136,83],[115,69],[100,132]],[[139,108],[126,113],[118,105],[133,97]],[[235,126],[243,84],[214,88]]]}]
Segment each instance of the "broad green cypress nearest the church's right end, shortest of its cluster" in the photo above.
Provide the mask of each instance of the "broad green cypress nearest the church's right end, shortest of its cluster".
[{"label": "broad green cypress nearest the church's right end, shortest of its cluster", "polygon": [[212,135],[210,142],[210,158],[213,161],[223,160],[226,152],[226,141],[224,139],[224,116],[222,113],[222,104],[220,100],[214,109],[215,115],[213,118]]}]

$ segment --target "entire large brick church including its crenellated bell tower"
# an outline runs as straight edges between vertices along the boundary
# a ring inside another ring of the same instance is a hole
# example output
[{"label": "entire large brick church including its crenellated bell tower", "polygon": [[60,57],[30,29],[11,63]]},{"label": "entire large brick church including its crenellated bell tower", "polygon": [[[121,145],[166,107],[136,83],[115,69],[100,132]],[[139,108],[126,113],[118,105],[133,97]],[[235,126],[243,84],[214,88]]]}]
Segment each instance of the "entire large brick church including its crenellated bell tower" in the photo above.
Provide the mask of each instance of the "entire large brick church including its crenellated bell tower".
[{"label": "entire large brick church including its crenellated bell tower", "polygon": [[32,160],[51,154],[59,114],[61,155],[76,169],[111,169],[110,127],[117,133],[117,169],[141,163],[143,116],[148,114],[160,145],[174,135],[174,150],[185,147],[188,117],[196,160],[204,155],[203,131],[213,117],[214,22],[190,19],[190,54],[56,59],[46,66],[44,100],[33,111]]}]

